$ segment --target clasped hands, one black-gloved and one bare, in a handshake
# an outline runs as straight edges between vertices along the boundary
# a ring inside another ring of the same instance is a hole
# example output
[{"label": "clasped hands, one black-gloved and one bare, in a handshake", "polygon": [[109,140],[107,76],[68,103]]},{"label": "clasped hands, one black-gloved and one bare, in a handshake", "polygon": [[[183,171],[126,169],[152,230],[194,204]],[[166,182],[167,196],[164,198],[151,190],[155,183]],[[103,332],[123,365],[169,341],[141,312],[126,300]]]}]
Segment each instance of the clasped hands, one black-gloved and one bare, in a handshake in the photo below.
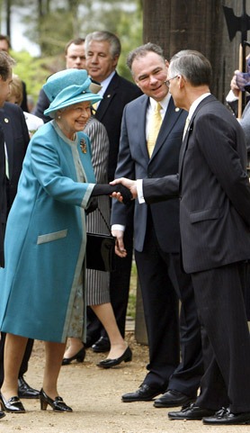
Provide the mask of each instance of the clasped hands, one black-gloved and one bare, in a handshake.
[{"label": "clasped hands, one black-gloved and one bare, in a handshake", "polygon": [[97,195],[111,195],[119,202],[128,204],[131,200],[137,197],[137,185],[135,180],[121,177],[113,180],[110,185],[94,185],[92,197]]}]

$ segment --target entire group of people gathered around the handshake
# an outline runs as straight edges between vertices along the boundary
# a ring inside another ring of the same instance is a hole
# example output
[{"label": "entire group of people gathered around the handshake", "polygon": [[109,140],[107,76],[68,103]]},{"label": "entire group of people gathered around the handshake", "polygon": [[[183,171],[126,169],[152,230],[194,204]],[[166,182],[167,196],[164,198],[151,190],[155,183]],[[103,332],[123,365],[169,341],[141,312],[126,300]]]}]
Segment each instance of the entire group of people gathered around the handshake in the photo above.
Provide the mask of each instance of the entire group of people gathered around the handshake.
[{"label": "entire group of people gathered around the handshake", "polygon": [[[121,401],[250,424],[250,102],[236,111],[249,56],[232,77],[233,114],[195,50],[167,60],[154,43],[137,47],[129,81],[119,38],[91,32],[67,42],[65,69],[32,105],[10,48],[0,35],[0,418],[24,413],[22,399],[71,412],[58,375],[89,347],[107,354],[103,369],[132,360],[134,255],[148,364]],[[86,233],[111,230],[114,270],[86,269]],[[40,391],[24,378],[34,339],[45,342]]]}]

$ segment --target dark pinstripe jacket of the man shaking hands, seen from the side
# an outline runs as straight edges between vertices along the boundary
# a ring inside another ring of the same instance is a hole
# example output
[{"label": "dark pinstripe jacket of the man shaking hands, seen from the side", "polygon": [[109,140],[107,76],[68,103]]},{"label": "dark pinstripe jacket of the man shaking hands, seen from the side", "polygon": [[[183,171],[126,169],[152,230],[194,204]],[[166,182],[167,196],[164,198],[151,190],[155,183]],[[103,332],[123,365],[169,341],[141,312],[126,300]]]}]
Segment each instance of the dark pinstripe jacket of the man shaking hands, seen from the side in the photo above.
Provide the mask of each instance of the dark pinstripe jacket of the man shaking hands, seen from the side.
[{"label": "dark pinstripe jacket of the man shaking hands, seen from the side", "polygon": [[180,152],[179,176],[146,179],[143,191],[147,203],[169,199],[179,191],[187,273],[250,258],[244,132],[213,95],[201,101],[192,116]]}]

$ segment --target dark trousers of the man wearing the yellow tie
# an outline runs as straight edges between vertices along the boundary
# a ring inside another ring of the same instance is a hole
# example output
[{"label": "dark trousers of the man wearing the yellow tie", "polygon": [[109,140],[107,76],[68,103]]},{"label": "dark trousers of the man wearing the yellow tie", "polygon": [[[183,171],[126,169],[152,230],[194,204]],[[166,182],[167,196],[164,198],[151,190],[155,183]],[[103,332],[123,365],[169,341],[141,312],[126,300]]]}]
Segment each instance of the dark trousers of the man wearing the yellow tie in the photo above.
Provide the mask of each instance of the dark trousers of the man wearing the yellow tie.
[{"label": "dark trousers of the man wearing the yellow tie", "polygon": [[[203,363],[192,281],[181,269],[179,254],[159,247],[149,210],[144,249],[136,250],[135,258],[149,346],[149,373],[144,383],[193,396],[200,386]],[[181,363],[178,298],[182,301]]]}]

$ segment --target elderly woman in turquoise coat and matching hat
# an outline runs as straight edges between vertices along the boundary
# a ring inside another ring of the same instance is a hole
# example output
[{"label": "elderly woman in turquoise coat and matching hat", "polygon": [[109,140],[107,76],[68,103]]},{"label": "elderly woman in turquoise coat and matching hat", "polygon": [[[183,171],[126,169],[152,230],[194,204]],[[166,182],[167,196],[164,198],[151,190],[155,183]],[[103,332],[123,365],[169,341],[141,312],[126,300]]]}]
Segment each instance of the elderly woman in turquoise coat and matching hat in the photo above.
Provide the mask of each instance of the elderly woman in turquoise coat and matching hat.
[{"label": "elderly woman in turquoise coat and matching hat", "polygon": [[43,86],[50,101],[45,114],[53,120],[40,127],[27,149],[0,269],[5,411],[25,411],[17,383],[27,338],[45,341],[41,410],[49,404],[72,411],[58,396],[57,383],[67,336],[83,337],[85,210],[94,195],[113,190],[95,185],[90,141],[82,132],[91,104],[101,99],[93,86],[78,69],[58,72]]}]

